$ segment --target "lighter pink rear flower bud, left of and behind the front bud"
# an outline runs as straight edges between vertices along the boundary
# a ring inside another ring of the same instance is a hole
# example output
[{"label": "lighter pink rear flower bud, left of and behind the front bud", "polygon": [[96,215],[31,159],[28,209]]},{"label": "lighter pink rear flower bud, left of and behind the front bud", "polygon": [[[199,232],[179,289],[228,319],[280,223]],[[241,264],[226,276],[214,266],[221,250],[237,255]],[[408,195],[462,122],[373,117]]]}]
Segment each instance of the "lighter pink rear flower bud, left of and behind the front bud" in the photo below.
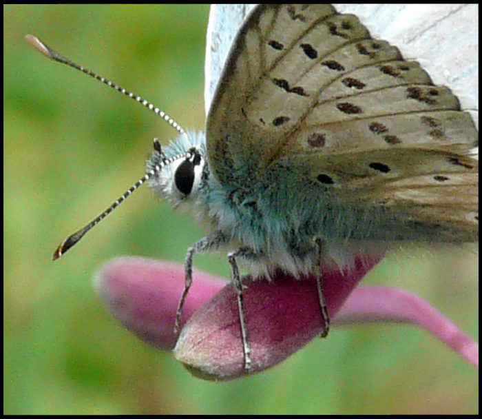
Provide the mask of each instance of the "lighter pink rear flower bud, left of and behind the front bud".
[{"label": "lighter pink rear flower bud, left of and behind the front bud", "polygon": [[[129,331],[149,345],[170,350],[176,344],[174,321],[184,276],[182,265],[122,257],[101,267],[94,286],[107,309]],[[182,323],[224,284],[222,280],[196,272]]]}]

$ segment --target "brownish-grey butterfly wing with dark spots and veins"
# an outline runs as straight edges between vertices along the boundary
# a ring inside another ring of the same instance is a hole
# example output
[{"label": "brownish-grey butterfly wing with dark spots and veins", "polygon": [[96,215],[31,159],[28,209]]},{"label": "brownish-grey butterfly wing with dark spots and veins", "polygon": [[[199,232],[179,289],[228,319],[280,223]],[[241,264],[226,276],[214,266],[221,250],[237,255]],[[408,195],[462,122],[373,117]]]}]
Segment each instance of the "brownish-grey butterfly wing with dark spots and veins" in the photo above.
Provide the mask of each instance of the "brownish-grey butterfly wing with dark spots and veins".
[{"label": "brownish-grey butterfly wing with dark spots and veins", "polygon": [[321,184],[338,202],[442,226],[441,241],[478,239],[477,142],[451,90],[330,5],[255,8],[207,121],[224,187],[289,167],[307,193]]}]

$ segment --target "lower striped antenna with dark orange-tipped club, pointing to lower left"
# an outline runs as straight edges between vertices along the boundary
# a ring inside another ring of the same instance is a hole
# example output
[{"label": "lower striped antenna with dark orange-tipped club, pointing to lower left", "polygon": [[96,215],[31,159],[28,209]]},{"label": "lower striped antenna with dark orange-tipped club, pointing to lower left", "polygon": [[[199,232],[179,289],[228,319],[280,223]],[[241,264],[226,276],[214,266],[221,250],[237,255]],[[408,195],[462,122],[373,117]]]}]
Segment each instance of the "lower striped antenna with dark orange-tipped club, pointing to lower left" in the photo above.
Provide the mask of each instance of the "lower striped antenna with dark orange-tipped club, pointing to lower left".
[{"label": "lower striped antenna with dark orange-tipped club, pointing to lower left", "polygon": [[127,197],[132,194],[132,192],[134,192],[138,187],[140,187],[140,185],[145,183],[145,181],[148,181],[152,176],[158,174],[163,169],[163,167],[171,164],[173,161],[176,161],[177,159],[185,159],[185,158],[189,159],[191,156],[191,151],[189,151],[187,153],[179,154],[178,156],[174,156],[174,157],[171,157],[170,159],[167,159],[167,157],[163,152],[163,149],[160,146],[158,139],[154,139],[154,150],[156,151],[156,153],[159,154],[158,156],[159,163],[156,164],[153,169],[149,170],[136,183],[134,183],[134,185],[129,187],[129,189],[125,191],[121,196],[119,196],[119,198],[114,203],[109,205],[109,207],[107,207],[107,210],[105,210],[102,214],[94,218],[94,220],[92,220],[90,223],[85,225],[85,227],[82,227],[74,234],[71,234],[70,236],[65,238],[65,240],[59,245],[59,247],[55,249],[54,256],[52,256],[53,260],[56,260],[60,258],[63,254],[65,254],[65,252],[67,252],[67,250],[70,249],[70,247],[74,246],[76,243],[78,243],[81,240],[81,238],[83,238],[83,236],[85,236],[85,233],[87,233],[90,229],[92,229],[92,227],[100,223],[106,216],[108,216],[112,211],[114,211],[116,207],[121,205],[121,203],[123,203],[127,199]]}]

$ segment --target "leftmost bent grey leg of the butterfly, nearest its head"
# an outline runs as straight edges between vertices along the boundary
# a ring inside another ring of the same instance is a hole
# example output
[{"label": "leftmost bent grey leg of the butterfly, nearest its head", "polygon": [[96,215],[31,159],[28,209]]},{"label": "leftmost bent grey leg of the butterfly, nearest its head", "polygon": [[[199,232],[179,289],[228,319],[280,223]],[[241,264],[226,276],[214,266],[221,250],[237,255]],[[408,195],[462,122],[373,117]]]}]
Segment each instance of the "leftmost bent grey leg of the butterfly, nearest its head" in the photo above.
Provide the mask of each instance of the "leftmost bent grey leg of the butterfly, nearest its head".
[{"label": "leftmost bent grey leg of the butterfly, nearest its head", "polygon": [[187,249],[186,259],[184,263],[185,286],[184,291],[182,291],[182,296],[179,300],[178,309],[176,311],[174,334],[178,334],[182,315],[182,307],[184,306],[187,294],[189,293],[189,288],[191,288],[193,282],[192,275],[194,255],[202,252],[208,252],[209,250],[217,250],[226,243],[228,243],[228,239],[226,238],[226,236],[224,236],[220,232],[213,232],[212,234],[209,234],[209,236],[203,237],[199,241],[196,241],[196,243],[189,246],[189,248]]}]

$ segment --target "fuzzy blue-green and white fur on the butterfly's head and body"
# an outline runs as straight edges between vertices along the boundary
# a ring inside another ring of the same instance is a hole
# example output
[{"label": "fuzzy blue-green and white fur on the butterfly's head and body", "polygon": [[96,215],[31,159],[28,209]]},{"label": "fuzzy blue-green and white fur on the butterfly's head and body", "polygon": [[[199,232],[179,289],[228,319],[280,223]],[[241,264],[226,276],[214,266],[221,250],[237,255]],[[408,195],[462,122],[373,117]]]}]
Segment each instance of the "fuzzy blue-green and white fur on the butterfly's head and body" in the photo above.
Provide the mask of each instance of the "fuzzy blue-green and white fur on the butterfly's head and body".
[{"label": "fuzzy blue-green and white fur on the butterfly's head and body", "polygon": [[[282,161],[271,165],[254,185],[223,187],[209,172],[202,133],[189,133],[189,139],[180,136],[163,152],[169,159],[191,147],[205,159],[204,180],[193,193],[181,198],[172,194],[175,165],[151,178],[150,185],[175,205],[191,207],[196,217],[205,221],[209,233],[222,232],[227,237],[224,250],[249,247],[258,255],[244,260],[252,274],[269,275],[277,267],[295,275],[313,272],[319,260],[315,238],[324,243],[324,261],[331,259],[343,267],[350,265],[355,252],[369,253],[374,242],[377,249],[384,249],[388,242],[421,235],[414,225],[402,222],[400,214],[395,217],[383,207],[339,201],[332,188],[317,183],[309,174],[293,173]],[[430,237],[428,226],[420,228]],[[437,234],[434,230],[432,238]]]}]

